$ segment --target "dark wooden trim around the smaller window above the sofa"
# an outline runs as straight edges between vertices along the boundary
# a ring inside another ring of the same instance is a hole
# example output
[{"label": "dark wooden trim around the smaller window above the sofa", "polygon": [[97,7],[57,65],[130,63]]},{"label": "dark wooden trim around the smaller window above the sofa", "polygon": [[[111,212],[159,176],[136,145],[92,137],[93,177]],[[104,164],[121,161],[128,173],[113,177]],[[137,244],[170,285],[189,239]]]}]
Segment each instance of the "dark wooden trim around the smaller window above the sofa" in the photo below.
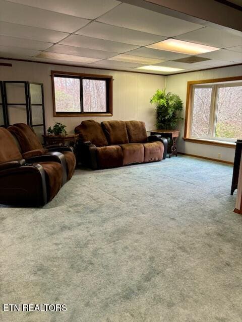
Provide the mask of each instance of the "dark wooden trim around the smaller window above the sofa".
[{"label": "dark wooden trim around the smaller window above the sofa", "polygon": [[[78,76],[78,77],[87,77],[87,78],[105,78],[107,80],[107,107],[108,112],[106,113],[98,113],[98,112],[56,112],[55,111],[55,94],[54,94],[54,76],[58,75],[70,75],[70,76]],[[53,101],[53,115],[54,117],[77,117],[77,116],[112,116],[112,76],[110,75],[98,75],[98,74],[84,74],[84,73],[77,73],[77,72],[68,72],[68,71],[58,71],[58,70],[51,70],[51,82],[52,82],[52,101]]]}]

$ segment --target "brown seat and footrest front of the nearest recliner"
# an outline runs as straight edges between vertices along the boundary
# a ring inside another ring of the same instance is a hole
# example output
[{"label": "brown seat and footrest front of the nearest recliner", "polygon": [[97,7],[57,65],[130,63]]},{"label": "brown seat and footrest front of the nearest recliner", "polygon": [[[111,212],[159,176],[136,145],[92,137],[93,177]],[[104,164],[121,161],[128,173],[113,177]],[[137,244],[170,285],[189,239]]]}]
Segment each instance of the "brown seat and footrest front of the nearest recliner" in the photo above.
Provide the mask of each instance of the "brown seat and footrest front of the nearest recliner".
[{"label": "brown seat and footrest front of the nearest recliner", "polygon": [[63,168],[57,162],[39,162],[45,172],[47,199],[50,201],[62,187]]}]

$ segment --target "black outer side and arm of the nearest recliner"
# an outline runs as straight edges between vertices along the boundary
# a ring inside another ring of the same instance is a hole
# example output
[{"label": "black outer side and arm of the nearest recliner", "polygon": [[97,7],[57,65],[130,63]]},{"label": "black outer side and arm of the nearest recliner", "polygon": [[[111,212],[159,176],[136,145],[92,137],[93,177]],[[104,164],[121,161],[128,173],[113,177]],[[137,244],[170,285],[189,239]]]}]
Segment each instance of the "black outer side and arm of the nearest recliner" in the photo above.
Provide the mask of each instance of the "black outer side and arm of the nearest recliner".
[{"label": "black outer side and arm of the nearest recliner", "polygon": [[31,164],[0,171],[0,203],[39,207],[47,201],[45,172],[40,165]]}]

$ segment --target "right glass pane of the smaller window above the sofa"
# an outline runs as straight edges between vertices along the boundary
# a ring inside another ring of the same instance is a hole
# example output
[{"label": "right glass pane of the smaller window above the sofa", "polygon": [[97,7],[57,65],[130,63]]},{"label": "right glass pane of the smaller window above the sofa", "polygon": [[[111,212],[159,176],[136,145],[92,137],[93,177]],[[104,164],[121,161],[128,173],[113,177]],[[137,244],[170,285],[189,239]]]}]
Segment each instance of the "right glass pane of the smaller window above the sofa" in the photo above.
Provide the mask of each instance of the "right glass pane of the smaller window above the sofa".
[{"label": "right glass pane of the smaller window above the sofa", "polygon": [[106,112],[106,81],[83,79],[83,112]]}]

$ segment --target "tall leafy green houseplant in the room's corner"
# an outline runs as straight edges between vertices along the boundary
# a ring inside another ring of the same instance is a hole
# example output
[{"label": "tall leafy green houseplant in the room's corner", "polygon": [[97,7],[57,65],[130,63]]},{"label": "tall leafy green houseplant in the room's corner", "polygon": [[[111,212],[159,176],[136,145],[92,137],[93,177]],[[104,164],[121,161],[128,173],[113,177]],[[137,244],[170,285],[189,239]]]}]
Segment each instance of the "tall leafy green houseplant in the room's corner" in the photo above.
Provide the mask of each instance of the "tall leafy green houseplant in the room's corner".
[{"label": "tall leafy green houseplant in the room's corner", "polygon": [[183,102],[178,95],[165,93],[165,89],[157,90],[150,99],[150,103],[156,104],[156,127],[157,129],[173,129],[178,121],[184,118],[179,116],[183,110]]}]

